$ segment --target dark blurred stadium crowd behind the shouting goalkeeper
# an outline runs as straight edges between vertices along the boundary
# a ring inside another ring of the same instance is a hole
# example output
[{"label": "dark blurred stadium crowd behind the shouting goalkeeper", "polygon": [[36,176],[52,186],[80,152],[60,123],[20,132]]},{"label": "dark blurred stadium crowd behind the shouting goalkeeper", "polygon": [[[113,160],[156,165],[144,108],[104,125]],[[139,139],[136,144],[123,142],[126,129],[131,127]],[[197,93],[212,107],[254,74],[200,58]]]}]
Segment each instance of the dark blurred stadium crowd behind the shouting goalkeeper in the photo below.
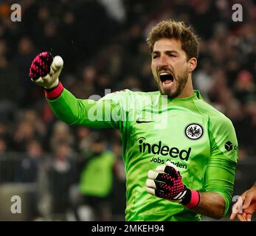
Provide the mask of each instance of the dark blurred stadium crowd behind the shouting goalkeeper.
[{"label": "dark blurred stadium crowd behind the shouting goalkeeper", "polygon": [[[14,3],[21,4],[21,22],[10,20]],[[232,21],[235,3],[243,6],[242,22]],[[201,37],[193,83],[235,125],[240,159],[234,195],[255,182],[255,1],[0,1],[1,221],[124,219],[119,133],[58,121],[28,70],[35,55],[49,51],[63,57],[60,80],[77,97],[103,97],[105,89],[154,91],[145,37],[165,18],[192,24]],[[111,156],[102,170],[111,185],[88,197],[79,191],[86,184],[82,176],[100,153]],[[21,197],[21,214],[10,212],[13,195]]]}]

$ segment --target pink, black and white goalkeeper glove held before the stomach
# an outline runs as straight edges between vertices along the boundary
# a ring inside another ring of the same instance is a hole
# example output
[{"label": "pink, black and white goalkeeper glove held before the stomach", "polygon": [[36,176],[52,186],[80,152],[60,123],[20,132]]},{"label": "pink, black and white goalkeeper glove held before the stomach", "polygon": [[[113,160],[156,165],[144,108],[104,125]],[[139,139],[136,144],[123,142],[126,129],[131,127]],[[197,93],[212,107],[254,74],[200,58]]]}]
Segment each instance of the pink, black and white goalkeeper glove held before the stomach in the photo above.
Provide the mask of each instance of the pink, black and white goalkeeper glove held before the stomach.
[{"label": "pink, black and white goalkeeper glove held before the stomach", "polygon": [[159,198],[166,198],[193,209],[199,204],[200,195],[196,190],[188,189],[182,183],[182,177],[176,165],[166,162],[148,171],[147,192]]}]

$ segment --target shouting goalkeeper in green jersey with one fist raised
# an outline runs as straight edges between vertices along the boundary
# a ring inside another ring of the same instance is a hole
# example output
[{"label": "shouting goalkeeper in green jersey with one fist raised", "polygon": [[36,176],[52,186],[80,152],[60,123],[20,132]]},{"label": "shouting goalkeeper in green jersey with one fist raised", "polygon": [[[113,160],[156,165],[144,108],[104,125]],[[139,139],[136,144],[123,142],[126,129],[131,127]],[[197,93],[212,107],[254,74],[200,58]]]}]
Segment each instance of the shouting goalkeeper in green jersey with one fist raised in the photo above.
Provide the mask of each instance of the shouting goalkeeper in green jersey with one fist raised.
[{"label": "shouting goalkeeper in green jersey with one fist raised", "polygon": [[238,141],[232,122],[193,90],[198,37],[182,22],[167,20],[153,27],[147,42],[159,91],[77,99],[60,83],[62,58],[48,52],[33,60],[30,78],[44,87],[64,122],[120,130],[126,221],[222,218],[232,198]]}]

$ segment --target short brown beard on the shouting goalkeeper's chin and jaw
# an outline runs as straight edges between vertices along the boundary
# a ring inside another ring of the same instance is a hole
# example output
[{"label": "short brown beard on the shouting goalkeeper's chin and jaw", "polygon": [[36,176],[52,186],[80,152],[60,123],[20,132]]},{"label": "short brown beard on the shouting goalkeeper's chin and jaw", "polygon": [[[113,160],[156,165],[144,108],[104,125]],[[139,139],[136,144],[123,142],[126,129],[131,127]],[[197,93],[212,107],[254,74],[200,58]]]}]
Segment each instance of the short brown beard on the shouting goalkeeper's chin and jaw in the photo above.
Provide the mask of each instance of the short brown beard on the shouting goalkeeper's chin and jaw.
[{"label": "short brown beard on the shouting goalkeeper's chin and jaw", "polygon": [[159,84],[157,84],[157,86],[162,95],[167,95],[167,97],[169,97],[169,98],[176,98],[184,90],[184,87],[187,84],[187,80],[188,80],[188,70],[186,70],[184,72],[184,74],[182,74],[181,76],[179,76],[175,80],[173,80],[173,83],[174,83],[174,81],[176,81],[176,84],[177,84],[177,89],[175,91],[171,91],[170,89],[167,89],[167,90],[160,89]]}]

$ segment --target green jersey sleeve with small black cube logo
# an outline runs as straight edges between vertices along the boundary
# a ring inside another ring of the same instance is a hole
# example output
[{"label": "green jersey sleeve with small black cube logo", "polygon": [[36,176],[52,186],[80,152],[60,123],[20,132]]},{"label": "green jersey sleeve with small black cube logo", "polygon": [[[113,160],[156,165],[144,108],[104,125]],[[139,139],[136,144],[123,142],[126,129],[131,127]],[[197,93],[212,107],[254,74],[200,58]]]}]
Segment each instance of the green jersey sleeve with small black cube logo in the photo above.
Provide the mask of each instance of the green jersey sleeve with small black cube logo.
[{"label": "green jersey sleeve with small black cube logo", "polygon": [[218,192],[224,197],[225,211],[229,209],[235,183],[235,168],[238,161],[238,141],[229,119],[211,124],[211,156],[205,174],[204,190]]}]

